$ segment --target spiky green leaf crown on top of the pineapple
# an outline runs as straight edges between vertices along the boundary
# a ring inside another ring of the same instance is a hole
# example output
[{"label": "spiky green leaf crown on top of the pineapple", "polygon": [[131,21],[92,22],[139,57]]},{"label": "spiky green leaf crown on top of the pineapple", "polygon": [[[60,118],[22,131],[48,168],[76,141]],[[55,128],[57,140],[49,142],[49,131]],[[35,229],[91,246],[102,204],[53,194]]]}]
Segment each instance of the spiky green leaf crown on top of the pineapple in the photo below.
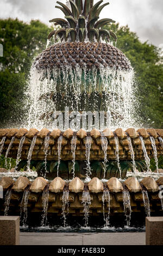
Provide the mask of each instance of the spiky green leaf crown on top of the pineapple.
[{"label": "spiky green leaf crown on top of the pineapple", "polygon": [[89,41],[110,41],[110,38],[117,41],[115,33],[103,29],[105,25],[115,23],[112,19],[99,20],[99,14],[102,9],[109,3],[103,3],[103,0],[98,1],[93,5],[93,0],[69,0],[70,7],[57,1],[60,6],[56,8],[60,9],[65,14],[65,19],[53,19],[49,22],[55,22],[54,25],[60,25],[62,29],[59,32],[51,32],[48,35],[48,39],[53,35],[59,36],[62,40],[68,41],[84,41],[86,38]]}]

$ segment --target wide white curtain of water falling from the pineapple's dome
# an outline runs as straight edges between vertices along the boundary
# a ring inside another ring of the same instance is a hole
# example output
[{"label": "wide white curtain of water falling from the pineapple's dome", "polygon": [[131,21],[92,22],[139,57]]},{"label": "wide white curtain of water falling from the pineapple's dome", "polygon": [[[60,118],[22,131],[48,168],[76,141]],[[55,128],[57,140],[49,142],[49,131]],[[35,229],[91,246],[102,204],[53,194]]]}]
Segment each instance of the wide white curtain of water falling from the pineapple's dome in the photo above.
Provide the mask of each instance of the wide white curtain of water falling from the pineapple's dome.
[{"label": "wide white curtain of water falling from the pineapple's dome", "polygon": [[[104,111],[112,113],[109,123],[110,129],[117,126],[122,127],[122,129],[134,126],[136,123],[134,120],[134,72],[109,68],[100,68],[98,72],[97,75],[96,69],[91,71],[88,71],[86,67],[80,69],[79,65],[71,68],[68,63],[66,69],[65,66],[62,66],[60,69],[56,67],[53,70],[47,69],[44,71],[38,71],[33,66],[26,92],[28,101],[27,104],[24,104],[25,107],[30,105],[28,117],[23,120],[27,129],[30,127],[36,127],[38,130],[41,130],[42,127],[47,127],[49,130],[55,129],[56,127],[54,127],[54,122],[49,113],[61,110],[58,107],[61,102],[55,101],[55,103],[52,103],[52,95],[56,93],[63,95],[64,93],[65,99],[67,99],[70,92],[72,92],[72,99],[68,103],[64,101],[63,105],[64,107],[72,105],[72,110],[78,111],[77,102],[80,101],[83,93],[99,91],[99,76],[101,77],[100,90],[106,94]],[[88,84],[87,81],[90,81],[90,77],[92,77],[92,82]],[[47,97],[43,95],[47,95]],[[85,107],[82,110],[85,111]],[[98,129],[98,127],[95,128]]]}]

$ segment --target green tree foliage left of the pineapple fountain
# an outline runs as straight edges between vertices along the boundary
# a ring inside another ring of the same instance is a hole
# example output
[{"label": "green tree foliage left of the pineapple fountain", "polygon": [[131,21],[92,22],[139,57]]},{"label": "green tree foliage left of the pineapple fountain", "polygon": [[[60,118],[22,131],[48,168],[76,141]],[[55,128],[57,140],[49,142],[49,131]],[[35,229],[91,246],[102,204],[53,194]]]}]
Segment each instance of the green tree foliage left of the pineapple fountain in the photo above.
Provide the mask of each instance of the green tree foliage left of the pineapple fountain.
[{"label": "green tree foliage left of the pineapple fountain", "polygon": [[0,19],[0,127],[21,123],[24,91],[33,58],[46,46],[51,28],[40,21],[30,24],[18,19]]}]

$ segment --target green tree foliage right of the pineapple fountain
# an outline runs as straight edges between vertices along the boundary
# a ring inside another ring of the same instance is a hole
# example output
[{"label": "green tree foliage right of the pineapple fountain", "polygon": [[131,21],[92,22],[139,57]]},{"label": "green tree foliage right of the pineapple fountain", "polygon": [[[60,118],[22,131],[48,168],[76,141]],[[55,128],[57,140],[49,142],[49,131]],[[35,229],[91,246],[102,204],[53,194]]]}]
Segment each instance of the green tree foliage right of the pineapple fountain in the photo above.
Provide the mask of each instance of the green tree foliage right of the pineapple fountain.
[{"label": "green tree foliage right of the pineapple fountain", "polygon": [[135,71],[136,115],[139,118],[136,126],[163,128],[163,62],[159,48],[142,43],[128,26],[113,24],[111,29],[117,34],[117,47],[126,54]]}]

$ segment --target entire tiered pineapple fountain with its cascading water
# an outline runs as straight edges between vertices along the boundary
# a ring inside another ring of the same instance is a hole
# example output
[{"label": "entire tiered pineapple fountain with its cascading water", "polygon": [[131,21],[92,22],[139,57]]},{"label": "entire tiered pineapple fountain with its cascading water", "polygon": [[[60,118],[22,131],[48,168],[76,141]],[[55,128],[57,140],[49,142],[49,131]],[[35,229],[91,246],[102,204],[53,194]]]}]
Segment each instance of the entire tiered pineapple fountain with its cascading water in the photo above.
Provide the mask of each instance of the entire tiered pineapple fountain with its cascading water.
[{"label": "entire tiered pineapple fountain with its cascading water", "polygon": [[99,20],[109,3],[57,3],[65,20],[50,21],[56,29],[34,61],[27,129],[0,130],[0,155],[16,159],[14,173],[1,173],[0,212],[19,213],[23,225],[27,214],[42,212],[42,226],[62,216],[64,227],[67,212],[84,216],[86,227],[89,215],[100,215],[105,228],[111,216],[126,217],[129,226],[131,214],[162,215],[163,130],[130,128],[134,72],[105,27],[115,21]]}]

